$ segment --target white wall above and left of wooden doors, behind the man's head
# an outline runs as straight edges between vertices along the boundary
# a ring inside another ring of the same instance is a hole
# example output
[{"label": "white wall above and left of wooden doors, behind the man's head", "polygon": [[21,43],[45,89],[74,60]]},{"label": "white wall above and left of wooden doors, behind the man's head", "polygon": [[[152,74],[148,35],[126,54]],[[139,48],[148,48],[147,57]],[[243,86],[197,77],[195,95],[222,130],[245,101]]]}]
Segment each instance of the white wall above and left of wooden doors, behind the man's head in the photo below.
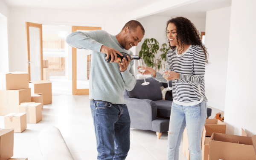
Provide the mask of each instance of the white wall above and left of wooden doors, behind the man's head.
[{"label": "white wall above and left of wooden doors, behind the man's head", "polygon": [[68,12],[12,7],[10,21],[10,71],[27,71],[26,21],[45,25],[100,26],[110,34],[116,35],[128,20],[123,15],[112,15],[108,13]]}]

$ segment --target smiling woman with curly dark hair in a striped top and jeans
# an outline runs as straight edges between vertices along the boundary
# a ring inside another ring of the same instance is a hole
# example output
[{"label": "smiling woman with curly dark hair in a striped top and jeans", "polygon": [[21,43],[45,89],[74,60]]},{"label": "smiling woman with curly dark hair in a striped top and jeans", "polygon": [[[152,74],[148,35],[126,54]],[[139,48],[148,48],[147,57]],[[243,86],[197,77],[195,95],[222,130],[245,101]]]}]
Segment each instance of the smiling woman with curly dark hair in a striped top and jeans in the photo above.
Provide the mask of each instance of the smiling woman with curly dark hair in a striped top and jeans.
[{"label": "smiling woman with curly dark hair in a striped top and jeans", "polygon": [[144,74],[150,74],[161,82],[172,80],[168,160],[179,159],[180,141],[185,127],[188,131],[190,160],[201,160],[201,137],[207,118],[204,73],[208,53],[195,26],[187,18],[172,18],[167,22],[166,32],[171,47],[167,52],[167,71],[161,75],[146,67]]}]

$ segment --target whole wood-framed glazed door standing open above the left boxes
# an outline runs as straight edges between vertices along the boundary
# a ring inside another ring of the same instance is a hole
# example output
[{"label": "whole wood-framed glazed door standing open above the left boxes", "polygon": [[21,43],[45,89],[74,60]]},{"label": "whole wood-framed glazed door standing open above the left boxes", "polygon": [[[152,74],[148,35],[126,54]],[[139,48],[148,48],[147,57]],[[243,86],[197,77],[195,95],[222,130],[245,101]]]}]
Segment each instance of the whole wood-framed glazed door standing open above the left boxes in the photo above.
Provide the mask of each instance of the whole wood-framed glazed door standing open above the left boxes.
[{"label": "whole wood-framed glazed door standing open above the left boxes", "polygon": [[43,80],[42,24],[26,22],[26,43],[29,81]]}]

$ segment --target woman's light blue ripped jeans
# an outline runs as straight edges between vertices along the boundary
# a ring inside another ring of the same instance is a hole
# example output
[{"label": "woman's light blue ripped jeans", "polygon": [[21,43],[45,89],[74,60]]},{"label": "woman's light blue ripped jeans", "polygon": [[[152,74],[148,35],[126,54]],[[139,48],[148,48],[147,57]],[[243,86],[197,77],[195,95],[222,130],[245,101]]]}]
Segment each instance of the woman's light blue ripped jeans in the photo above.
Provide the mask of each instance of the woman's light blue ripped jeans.
[{"label": "woman's light blue ripped jeans", "polygon": [[168,131],[168,160],[179,159],[179,147],[185,127],[188,131],[190,160],[202,160],[201,138],[207,118],[205,101],[194,106],[183,106],[172,103]]}]

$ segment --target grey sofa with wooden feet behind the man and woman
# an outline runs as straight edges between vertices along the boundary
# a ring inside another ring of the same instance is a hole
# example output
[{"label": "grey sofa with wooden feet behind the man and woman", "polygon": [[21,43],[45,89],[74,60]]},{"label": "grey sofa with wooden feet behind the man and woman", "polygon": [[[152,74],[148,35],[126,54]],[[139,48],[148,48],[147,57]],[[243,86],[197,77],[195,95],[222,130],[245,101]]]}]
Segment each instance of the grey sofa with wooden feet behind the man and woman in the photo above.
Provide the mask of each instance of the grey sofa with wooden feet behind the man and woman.
[{"label": "grey sofa with wooden feet behind the man and woman", "polygon": [[[146,78],[150,84],[143,86],[144,79],[137,79],[133,90],[124,92],[124,101],[128,107],[131,118],[131,128],[155,131],[160,139],[162,132],[168,131],[169,119],[172,107],[172,91],[166,93],[163,100],[161,86],[167,87],[167,83],[161,83],[151,77]],[[169,82],[170,87],[172,81]],[[211,109],[207,108],[207,116],[211,115]]]}]

